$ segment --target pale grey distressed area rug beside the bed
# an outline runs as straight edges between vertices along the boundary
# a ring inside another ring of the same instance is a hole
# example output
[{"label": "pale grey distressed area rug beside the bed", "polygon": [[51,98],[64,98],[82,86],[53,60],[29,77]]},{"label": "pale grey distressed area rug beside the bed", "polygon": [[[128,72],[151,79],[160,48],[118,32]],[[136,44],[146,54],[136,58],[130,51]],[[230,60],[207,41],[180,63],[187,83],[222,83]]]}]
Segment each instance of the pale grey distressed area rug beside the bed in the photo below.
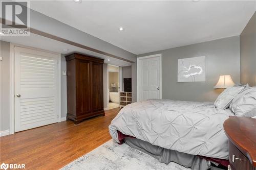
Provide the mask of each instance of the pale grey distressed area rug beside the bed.
[{"label": "pale grey distressed area rug beside the bed", "polygon": [[161,163],[150,155],[129,147],[123,143],[119,145],[112,139],[102,144],[100,147],[83,155],[71,162],[62,170],[79,169],[99,169],[99,170],[119,170],[119,169],[163,169],[163,170],[188,170],[177,163]]}]

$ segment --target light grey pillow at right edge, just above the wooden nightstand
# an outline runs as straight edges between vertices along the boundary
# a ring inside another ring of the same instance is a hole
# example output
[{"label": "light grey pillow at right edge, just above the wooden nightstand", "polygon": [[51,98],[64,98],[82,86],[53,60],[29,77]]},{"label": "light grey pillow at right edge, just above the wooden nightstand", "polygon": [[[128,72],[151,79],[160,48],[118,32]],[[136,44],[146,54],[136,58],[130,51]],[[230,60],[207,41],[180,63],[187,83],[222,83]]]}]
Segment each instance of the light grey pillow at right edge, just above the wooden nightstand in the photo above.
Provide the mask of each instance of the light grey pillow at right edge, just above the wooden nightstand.
[{"label": "light grey pillow at right edge, just above the wooden nightstand", "polygon": [[230,109],[236,116],[256,116],[256,87],[243,90],[232,101]]}]

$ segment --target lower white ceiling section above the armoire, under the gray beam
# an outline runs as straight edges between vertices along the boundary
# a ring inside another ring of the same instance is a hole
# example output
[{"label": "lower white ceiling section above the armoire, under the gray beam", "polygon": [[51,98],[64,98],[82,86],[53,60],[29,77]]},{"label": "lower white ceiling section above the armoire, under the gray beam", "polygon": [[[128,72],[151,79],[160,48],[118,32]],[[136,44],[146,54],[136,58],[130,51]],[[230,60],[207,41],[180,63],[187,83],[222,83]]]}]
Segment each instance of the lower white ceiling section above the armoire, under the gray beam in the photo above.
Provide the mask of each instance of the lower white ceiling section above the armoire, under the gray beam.
[{"label": "lower white ceiling section above the armoire, under the gray beam", "polygon": [[[0,40],[12,42],[15,44],[22,44],[25,46],[40,48],[42,50],[48,50],[55,53],[61,53],[64,55],[71,54],[73,52],[87,54],[89,56],[96,56],[97,58],[104,59],[104,63],[117,65],[117,66],[129,66],[130,62],[119,60],[113,57],[98,54],[83,48],[66,44],[60,41],[56,41],[50,38],[46,38],[37,34],[30,33],[30,36],[0,36]],[[63,51],[66,49],[68,51]],[[110,61],[108,61],[108,59]]]}]

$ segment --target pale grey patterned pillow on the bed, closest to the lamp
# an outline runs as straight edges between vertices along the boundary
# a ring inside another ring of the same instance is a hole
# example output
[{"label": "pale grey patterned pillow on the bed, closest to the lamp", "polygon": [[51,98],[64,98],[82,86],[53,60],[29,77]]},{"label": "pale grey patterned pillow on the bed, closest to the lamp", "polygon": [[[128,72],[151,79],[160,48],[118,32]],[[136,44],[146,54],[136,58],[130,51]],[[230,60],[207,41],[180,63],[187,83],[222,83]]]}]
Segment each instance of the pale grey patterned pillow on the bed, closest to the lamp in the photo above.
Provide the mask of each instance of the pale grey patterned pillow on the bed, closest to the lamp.
[{"label": "pale grey patterned pillow on the bed, closest to the lamp", "polygon": [[231,104],[234,96],[236,96],[244,87],[228,87],[216,99],[214,105],[218,109],[226,109]]}]

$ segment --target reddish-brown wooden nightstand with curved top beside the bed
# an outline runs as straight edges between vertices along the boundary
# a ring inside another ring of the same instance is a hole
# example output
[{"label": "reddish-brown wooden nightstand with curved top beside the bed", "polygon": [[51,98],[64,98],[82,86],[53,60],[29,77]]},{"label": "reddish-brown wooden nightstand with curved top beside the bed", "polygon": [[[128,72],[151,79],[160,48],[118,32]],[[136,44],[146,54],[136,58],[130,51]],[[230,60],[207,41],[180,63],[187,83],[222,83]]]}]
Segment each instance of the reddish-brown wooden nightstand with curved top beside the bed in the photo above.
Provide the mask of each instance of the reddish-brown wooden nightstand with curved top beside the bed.
[{"label": "reddish-brown wooden nightstand with curved top beside the bed", "polygon": [[232,170],[256,170],[256,119],[229,116],[224,122]]}]

